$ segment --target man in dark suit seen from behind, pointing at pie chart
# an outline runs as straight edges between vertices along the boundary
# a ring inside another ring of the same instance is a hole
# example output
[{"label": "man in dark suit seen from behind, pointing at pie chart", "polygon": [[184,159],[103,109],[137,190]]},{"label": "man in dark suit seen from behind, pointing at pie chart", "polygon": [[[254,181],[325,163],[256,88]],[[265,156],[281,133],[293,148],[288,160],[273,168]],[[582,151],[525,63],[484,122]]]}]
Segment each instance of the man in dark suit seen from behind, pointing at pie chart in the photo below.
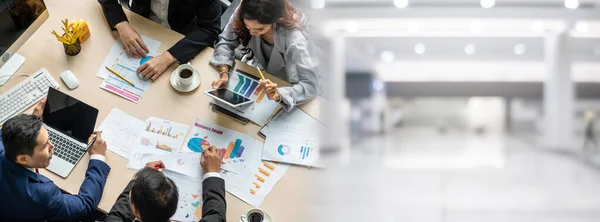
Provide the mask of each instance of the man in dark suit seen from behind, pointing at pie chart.
[{"label": "man in dark suit seen from behind, pointing at pie chart", "polygon": [[[214,146],[202,153],[200,159],[204,172],[202,181],[203,202],[200,222],[226,221],[225,181],[221,178],[221,152]],[[149,162],[136,173],[117,199],[105,222],[130,222],[136,218],[143,222],[166,222],[177,211],[178,192],[175,183],[161,171],[161,161]]]}]

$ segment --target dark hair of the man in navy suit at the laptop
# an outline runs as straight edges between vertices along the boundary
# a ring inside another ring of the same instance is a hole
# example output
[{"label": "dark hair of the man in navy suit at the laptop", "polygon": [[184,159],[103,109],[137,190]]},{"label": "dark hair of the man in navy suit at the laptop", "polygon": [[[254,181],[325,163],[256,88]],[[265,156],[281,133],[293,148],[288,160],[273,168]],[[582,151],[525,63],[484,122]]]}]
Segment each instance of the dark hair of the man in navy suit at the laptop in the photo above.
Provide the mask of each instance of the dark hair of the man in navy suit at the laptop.
[{"label": "dark hair of the man in navy suit at the laptop", "polygon": [[2,128],[6,157],[16,161],[17,155],[33,156],[41,128],[42,118],[39,116],[21,114],[6,121]]}]

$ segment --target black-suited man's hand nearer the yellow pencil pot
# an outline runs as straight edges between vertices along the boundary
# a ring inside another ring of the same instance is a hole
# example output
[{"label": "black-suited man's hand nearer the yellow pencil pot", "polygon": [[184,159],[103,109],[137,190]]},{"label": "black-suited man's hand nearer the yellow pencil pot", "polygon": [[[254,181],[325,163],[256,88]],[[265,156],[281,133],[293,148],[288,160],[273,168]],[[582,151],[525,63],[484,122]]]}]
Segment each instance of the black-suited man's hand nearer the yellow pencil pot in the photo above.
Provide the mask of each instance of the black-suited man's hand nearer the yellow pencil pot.
[{"label": "black-suited man's hand nearer the yellow pencil pot", "polygon": [[121,38],[121,43],[123,43],[123,48],[127,52],[130,57],[145,57],[150,50],[146,47],[144,41],[142,41],[142,37],[138,34],[129,22],[124,21],[117,25],[115,28],[119,32],[119,37]]}]

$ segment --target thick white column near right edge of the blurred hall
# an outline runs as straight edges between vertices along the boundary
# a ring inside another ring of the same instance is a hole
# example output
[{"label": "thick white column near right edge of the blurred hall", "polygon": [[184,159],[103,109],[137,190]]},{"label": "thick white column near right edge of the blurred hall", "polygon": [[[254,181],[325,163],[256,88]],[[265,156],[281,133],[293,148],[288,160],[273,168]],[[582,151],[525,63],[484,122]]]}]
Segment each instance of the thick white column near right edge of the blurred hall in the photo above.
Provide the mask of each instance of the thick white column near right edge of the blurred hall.
[{"label": "thick white column near right edge of the blurred hall", "polygon": [[549,33],[545,38],[543,146],[569,150],[573,143],[575,85],[571,78],[569,35]]}]

